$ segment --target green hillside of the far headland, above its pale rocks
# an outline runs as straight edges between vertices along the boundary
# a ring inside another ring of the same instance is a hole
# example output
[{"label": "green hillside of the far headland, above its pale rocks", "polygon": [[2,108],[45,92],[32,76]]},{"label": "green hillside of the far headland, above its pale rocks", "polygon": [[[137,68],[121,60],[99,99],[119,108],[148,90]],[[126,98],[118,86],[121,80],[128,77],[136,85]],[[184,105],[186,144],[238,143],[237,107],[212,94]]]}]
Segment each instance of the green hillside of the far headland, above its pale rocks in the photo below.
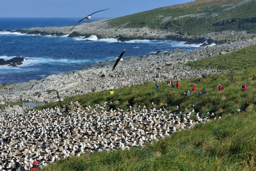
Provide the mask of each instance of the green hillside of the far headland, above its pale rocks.
[{"label": "green hillside of the far headland, above its pale rocks", "polygon": [[111,26],[149,27],[198,35],[223,30],[245,30],[255,33],[256,2],[243,0],[197,0],[143,11],[109,21]]}]

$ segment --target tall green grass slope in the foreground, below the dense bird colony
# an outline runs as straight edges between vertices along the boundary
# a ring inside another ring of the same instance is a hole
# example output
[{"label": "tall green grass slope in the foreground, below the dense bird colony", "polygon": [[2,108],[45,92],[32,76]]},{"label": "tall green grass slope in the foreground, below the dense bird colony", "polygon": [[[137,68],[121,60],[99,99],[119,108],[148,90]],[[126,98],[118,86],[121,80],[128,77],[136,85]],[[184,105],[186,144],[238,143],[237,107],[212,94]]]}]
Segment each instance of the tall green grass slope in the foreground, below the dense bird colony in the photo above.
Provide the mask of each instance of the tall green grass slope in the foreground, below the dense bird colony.
[{"label": "tall green grass slope in the foreground, below the dense bird colony", "polygon": [[42,170],[254,170],[255,117],[227,114],[143,148],[69,157]]}]

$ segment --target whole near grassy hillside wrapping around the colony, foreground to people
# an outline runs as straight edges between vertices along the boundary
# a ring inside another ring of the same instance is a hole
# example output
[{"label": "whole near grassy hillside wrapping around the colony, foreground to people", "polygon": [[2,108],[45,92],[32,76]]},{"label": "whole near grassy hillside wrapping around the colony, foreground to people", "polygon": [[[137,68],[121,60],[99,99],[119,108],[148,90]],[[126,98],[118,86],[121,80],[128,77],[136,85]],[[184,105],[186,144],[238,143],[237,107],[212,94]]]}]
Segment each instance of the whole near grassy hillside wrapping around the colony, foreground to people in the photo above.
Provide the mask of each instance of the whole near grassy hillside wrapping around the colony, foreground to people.
[{"label": "whole near grassy hillside wrapping around the colony, foreground to people", "polygon": [[[245,60],[244,55],[247,59]],[[195,112],[200,117],[208,117],[207,112],[214,112],[221,119],[200,124],[189,131],[179,131],[161,141],[148,144],[143,148],[132,148],[113,152],[93,152],[81,157],[68,157],[42,170],[255,170],[256,169],[256,68],[255,46],[191,62],[197,68],[211,67],[225,59],[225,64],[218,68],[233,70],[225,74],[208,75],[206,78],[193,78],[181,81],[180,89],[162,87],[155,89],[155,83],[115,90],[114,96],[108,91],[70,97],[64,102],[78,100],[84,107],[103,101],[112,101],[108,107],[117,108],[132,105],[151,106],[188,112],[196,105]],[[236,63],[245,64],[246,69]],[[202,66],[198,66],[202,64]],[[217,85],[222,83],[225,89],[218,92]],[[245,82],[249,89],[241,91]],[[209,94],[185,96],[196,83],[198,90]],[[161,83],[164,85],[164,83]],[[51,107],[58,103],[47,104]],[[42,108],[38,107],[38,108]],[[238,112],[241,109],[242,112]],[[179,112],[178,111],[178,112]]]}]

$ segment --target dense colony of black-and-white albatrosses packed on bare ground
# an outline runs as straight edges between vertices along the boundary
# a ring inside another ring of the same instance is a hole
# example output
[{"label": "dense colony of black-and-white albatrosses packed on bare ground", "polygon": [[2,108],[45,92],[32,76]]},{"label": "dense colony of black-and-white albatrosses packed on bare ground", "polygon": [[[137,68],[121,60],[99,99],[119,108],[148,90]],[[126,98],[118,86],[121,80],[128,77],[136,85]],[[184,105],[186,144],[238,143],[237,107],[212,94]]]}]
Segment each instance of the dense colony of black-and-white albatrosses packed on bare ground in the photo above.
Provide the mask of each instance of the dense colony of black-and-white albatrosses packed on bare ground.
[{"label": "dense colony of black-and-white albatrosses packed on bare ground", "polygon": [[[158,141],[172,132],[210,120],[197,113],[144,107],[105,110],[107,102],[84,109],[78,102],[41,111],[0,113],[0,166],[8,170],[19,161],[26,169],[59,158],[93,151],[129,150]],[[100,111],[100,112],[99,112]],[[197,116],[191,120],[190,115]],[[214,118],[214,115],[212,115]]]}]

